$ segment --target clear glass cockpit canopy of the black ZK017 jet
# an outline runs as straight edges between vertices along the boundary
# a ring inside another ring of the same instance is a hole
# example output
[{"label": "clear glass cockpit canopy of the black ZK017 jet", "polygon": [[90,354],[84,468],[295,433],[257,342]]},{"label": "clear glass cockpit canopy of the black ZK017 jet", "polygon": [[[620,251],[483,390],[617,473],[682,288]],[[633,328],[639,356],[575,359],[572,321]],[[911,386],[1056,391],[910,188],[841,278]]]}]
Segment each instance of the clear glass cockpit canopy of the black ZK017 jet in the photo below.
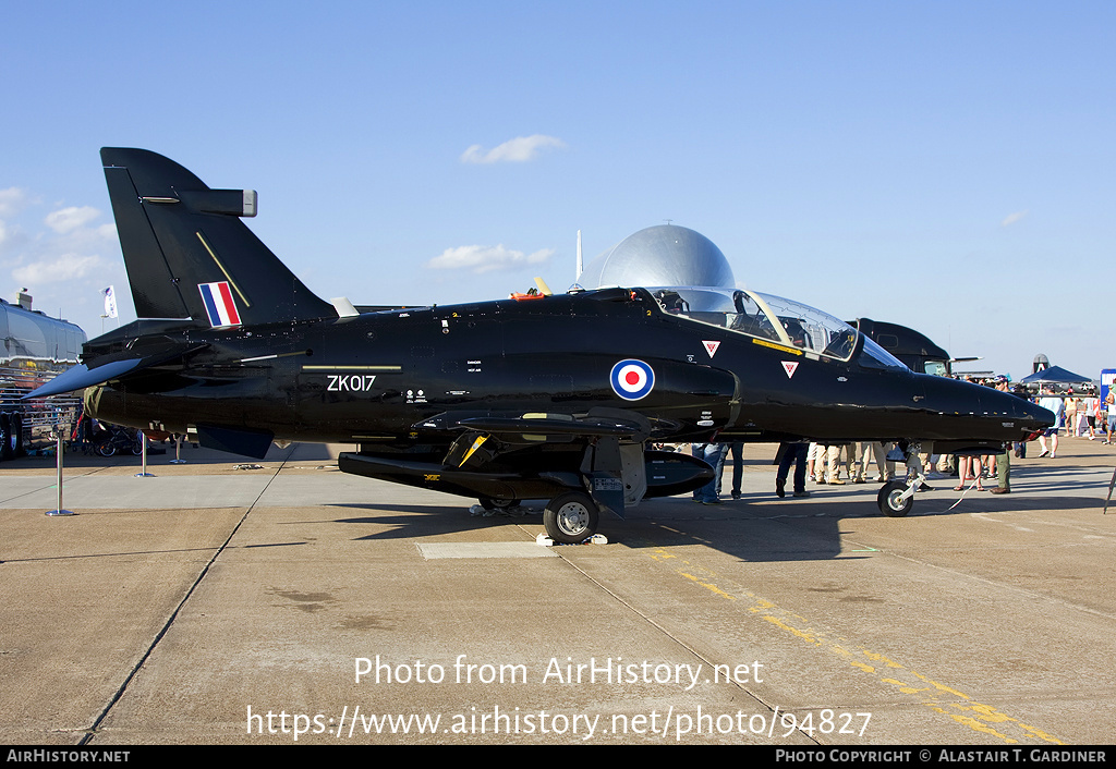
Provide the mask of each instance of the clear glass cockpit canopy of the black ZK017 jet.
[{"label": "clear glass cockpit canopy of the black ZK017 jet", "polygon": [[[759,291],[693,286],[647,290],[668,315],[797,347],[806,355],[848,362],[862,337],[855,328],[831,315]],[[867,337],[864,337],[864,353],[858,363],[872,368],[906,368]]]}]

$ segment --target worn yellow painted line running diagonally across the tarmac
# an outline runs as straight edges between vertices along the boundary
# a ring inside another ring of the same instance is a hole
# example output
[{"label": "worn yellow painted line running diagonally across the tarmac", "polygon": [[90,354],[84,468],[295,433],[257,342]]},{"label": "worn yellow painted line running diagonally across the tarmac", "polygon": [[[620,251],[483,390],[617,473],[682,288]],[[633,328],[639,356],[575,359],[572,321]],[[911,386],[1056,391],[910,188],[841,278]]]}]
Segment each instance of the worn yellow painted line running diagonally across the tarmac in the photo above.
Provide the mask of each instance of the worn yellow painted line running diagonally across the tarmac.
[{"label": "worn yellow painted line running diagonally across the tarmac", "polygon": [[[858,644],[849,644],[844,638],[834,640],[830,637],[831,633],[814,627],[806,617],[785,609],[732,579],[689,561],[665,547],[652,548],[648,550],[648,555],[652,559],[672,567],[676,574],[705,588],[719,598],[750,602],[745,608],[748,614],[763,619],[804,643],[836,654],[847,661],[853,671],[874,676],[876,682],[885,688],[918,696],[924,706],[951,719],[954,723],[1007,743],[1040,740],[1052,744],[1066,744],[1062,740],[1041,729],[1001,713],[992,705],[977,702],[968,694],[933,681],[883,654]],[[741,603],[741,605],[744,604]]]}]

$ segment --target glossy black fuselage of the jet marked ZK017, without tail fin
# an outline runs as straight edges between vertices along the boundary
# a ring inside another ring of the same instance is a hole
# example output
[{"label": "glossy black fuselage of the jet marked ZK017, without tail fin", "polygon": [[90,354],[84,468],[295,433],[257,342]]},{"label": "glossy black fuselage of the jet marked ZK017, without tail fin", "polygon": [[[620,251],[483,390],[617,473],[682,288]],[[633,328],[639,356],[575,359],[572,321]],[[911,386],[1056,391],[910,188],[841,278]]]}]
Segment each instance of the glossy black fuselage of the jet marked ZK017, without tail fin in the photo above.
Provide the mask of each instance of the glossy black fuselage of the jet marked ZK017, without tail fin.
[{"label": "glossy black fuselage of the jet marked ZK017, without tail fin", "polygon": [[[276,439],[362,444],[446,443],[444,425],[422,424],[446,412],[600,407],[638,412],[651,421],[652,440],[672,442],[716,433],[741,441],[1004,441],[1041,426],[1036,408],[1014,396],[856,359],[809,359],[793,347],[664,314],[641,290],[184,327],[167,337],[204,347],[185,366],[153,366],[97,388],[89,402],[98,417],[174,432],[200,421],[246,431],[266,425]],[[109,338],[90,346],[102,340]],[[646,365],[646,393],[610,382],[625,361]]]}]

